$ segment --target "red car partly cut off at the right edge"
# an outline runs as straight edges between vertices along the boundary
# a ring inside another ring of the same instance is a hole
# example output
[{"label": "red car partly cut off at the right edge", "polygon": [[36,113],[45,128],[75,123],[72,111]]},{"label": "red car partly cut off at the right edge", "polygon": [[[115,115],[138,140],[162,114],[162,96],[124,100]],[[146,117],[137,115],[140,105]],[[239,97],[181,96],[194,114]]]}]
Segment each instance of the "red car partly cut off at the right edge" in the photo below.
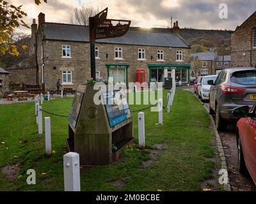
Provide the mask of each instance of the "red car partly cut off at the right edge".
[{"label": "red car partly cut off at the right edge", "polygon": [[256,185],[256,104],[250,110],[249,106],[242,106],[233,110],[235,117],[241,118],[237,122],[237,149],[239,170],[248,170]]}]

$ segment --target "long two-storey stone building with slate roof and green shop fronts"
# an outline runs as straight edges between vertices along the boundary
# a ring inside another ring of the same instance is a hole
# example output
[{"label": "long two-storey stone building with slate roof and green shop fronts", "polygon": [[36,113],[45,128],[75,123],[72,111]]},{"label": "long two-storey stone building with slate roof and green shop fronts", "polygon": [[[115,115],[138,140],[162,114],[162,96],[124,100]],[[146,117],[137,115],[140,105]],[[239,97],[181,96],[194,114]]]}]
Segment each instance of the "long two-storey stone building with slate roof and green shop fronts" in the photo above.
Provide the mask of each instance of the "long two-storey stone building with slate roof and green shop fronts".
[{"label": "long two-storey stone building with slate roof and green shop fronts", "polygon": [[[38,26],[34,20],[31,28],[31,43],[36,45],[31,46],[31,57],[36,59],[34,67],[38,67],[38,71],[32,71],[33,82],[38,75],[38,83],[48,91],[56,89],[58,78],[73,89],[90,78],[88,27],[45,22],[44,13],[40,13]],[[176,22],[173,29],[131,27],[120,38],[97,40],[97,77],[113,77],[114,82],[127,84],[136,81],[137,69],[143,69],[147,82],[163,82],[172,76],[176,82],[188,84],[190,47],[178,33]]]}]

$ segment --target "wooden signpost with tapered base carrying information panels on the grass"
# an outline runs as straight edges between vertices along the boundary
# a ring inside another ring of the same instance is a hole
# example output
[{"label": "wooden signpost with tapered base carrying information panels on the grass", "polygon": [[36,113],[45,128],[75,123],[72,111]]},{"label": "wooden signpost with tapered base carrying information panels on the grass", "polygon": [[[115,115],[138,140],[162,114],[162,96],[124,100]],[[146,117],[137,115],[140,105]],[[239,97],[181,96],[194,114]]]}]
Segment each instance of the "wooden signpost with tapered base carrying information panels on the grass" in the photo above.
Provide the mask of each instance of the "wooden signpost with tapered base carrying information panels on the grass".
[{"label": "wooden signpost with tapered base carrying information panels on the grass", "polygon": [[[89,19],[91,77],[95,80],[95,41],[123,36],[130,20],[106,19],[108,8]],[[112,87],[112,89],[111,89]],[[68,152],[79,154],[83,166],[110,164],[134,143],[131,110],[122,90],[95,90],[78,85],[68,121]],[[93,101],[95,94],[100,104]]]}]

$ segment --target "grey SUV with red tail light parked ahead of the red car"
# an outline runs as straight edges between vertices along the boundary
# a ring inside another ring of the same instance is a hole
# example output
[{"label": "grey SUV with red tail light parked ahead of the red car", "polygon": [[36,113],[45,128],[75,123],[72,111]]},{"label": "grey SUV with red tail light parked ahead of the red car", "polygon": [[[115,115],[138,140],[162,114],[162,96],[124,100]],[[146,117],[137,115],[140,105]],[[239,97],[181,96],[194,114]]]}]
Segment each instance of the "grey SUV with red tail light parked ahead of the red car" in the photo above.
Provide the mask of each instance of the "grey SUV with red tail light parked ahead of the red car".
[{"label": "grey SUV with red tail light parked ahead of the red car", "polygon": [[232,114],[234,108],[256,102],[256,68],[223,69],[209,92],[210,114],[216,114],[218,130],[224,130],[228,121],[238,120]]}]

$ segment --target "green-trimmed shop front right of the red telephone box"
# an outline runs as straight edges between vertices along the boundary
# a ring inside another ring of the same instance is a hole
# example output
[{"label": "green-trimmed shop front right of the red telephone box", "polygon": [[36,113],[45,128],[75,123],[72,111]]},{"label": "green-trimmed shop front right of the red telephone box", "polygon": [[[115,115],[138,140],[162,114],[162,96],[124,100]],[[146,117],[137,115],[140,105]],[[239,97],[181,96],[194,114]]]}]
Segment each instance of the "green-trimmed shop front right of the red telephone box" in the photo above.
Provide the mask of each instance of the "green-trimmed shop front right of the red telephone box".
[{"label": "green-trimmed shop front right of the red telephone box", "polygon": [[188,84],[190,64],[148,64],[149,82],[163,83],[173,78],[173,84]]}]

